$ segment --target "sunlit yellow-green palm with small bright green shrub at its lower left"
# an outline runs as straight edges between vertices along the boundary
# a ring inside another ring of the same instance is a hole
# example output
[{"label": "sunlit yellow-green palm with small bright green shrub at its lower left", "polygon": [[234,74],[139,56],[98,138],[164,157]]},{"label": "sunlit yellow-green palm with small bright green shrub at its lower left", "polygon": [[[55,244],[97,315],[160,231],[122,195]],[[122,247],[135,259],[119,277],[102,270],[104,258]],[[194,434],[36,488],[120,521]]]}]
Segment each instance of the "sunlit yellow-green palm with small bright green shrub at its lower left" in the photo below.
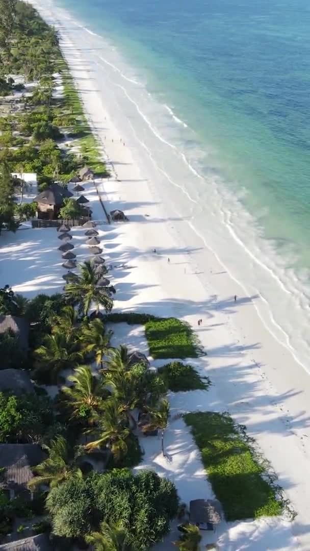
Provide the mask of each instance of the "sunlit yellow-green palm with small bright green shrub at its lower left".
[{"label": "sunlit yellow-green palm with small bright green shrub at its lower left", "polygon": [[88,425],[93,426],[102,409],[104,386],[101,379],[92,374],[89,366],[80,365],[74,370],[74,375],[69,375],[68,380],[73,386],[63,386],[62,391],[72,408],[72,417],[87,416]]}]

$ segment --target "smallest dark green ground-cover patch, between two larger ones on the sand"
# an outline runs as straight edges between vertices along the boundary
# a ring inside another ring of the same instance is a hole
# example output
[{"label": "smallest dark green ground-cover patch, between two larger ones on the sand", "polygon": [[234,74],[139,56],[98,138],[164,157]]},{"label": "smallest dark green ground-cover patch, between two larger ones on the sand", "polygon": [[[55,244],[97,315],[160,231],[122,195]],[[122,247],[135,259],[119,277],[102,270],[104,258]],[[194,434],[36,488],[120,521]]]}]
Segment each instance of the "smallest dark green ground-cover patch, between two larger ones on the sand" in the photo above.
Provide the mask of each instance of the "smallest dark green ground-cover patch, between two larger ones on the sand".
[{"label": "smallest dark green ground-cover patch, between two larger ones on the sand", "polygon": [[210,385],[209,377],[200,377],[195,368],[181,361],[172,361],[163,365],[158,372],[172,392],[186,392],[189,390],[206,390]]}]

